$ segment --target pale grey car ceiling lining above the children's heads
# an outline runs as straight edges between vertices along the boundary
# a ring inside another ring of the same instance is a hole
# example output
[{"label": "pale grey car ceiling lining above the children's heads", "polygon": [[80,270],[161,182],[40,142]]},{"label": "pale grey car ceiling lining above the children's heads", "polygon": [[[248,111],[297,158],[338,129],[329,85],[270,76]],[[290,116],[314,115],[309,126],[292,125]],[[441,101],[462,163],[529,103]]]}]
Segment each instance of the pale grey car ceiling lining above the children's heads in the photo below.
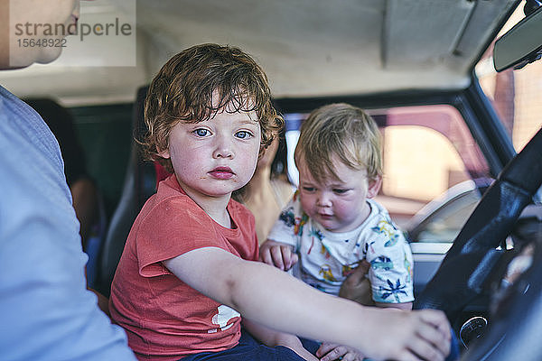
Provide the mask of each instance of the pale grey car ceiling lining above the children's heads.
[{"label": "pale grey car ceiling lining above the children's heads", "polygon": [[[123,1],[111,0],[120,7]],[[33,66],[0,73],[0,84],[20,96],[52,95],[66,102],[127,100],[174,53],[218,42],[253,55],[275,97],[464,88],[473,63],[515,4],[137,0],[136,67]]]}]

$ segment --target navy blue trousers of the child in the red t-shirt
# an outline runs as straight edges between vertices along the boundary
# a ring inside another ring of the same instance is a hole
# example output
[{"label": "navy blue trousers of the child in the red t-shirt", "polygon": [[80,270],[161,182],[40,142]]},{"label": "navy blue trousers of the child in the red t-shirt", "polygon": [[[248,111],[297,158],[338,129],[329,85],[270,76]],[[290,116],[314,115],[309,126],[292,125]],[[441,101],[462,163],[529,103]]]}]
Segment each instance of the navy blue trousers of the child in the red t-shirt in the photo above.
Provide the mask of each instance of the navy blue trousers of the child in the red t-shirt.
[{"label": "navy blue trousers of the child in the red t-shirt", "polygon": [[[316,352],[320,344],[301,338],[303,346],[312,352]],[[184,356],[182,361],[304,361],[288,347],[267,347],[252,337],[246,330],[241,330],[241,338],[235,347],[219,352],[202,352],[191,356]]]}]

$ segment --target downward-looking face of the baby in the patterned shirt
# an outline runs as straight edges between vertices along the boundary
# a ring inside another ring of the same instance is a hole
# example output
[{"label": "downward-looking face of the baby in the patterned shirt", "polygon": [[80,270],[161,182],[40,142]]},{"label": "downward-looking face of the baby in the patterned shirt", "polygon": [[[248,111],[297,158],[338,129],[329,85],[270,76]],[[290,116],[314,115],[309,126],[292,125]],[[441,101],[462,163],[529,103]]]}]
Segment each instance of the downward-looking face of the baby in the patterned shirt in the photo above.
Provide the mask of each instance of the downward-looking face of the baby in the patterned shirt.
[{"label": "downward-looking face of the baby in the patterned shirt", "polygon": [[335,172],[340,180],[320,183],[313,179],[303,156],[296,163],[301,205],[322,227],[332,232],[348,232],[359,227],[369,216],[366,199],[378,193],[379,177],[369,182],[366,170],[353,170],[334,157]]}]

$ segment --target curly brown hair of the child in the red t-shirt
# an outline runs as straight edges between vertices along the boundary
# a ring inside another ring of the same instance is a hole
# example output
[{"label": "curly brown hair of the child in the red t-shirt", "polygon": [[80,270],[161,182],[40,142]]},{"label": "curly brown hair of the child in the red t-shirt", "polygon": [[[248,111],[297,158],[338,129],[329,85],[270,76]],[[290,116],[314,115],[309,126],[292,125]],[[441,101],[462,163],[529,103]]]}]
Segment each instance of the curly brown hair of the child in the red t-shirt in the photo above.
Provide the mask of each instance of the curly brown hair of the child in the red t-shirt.
[{"label": "curly brown hair of the child in the red t-shirt", "polygon": [[[213,94],[218,96],[215,102]],[[236,47],[201,44],[173,56],[154,77],[145,98],[147,132],[138,142],[144,158],[173,171],[171,160],[159,155],[169,145],[173,126],[208,120],[225,106],[232,113],[256,112],[261,151],[284,125],[272,105],[264,70],[247,53]]]}]

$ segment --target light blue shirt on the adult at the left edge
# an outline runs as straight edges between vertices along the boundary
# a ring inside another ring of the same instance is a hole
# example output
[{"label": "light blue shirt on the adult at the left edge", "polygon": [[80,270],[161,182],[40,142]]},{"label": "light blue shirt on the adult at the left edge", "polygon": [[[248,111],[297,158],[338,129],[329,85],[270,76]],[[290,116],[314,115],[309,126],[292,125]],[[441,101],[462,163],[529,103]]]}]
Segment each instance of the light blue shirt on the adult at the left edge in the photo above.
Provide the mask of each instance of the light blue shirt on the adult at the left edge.
[{"label": "light blue shirt on the adult at the left edge", "polygon": [[86,288],[61,153],[0,87],[0,353],[7,360],[135,360]]}]

